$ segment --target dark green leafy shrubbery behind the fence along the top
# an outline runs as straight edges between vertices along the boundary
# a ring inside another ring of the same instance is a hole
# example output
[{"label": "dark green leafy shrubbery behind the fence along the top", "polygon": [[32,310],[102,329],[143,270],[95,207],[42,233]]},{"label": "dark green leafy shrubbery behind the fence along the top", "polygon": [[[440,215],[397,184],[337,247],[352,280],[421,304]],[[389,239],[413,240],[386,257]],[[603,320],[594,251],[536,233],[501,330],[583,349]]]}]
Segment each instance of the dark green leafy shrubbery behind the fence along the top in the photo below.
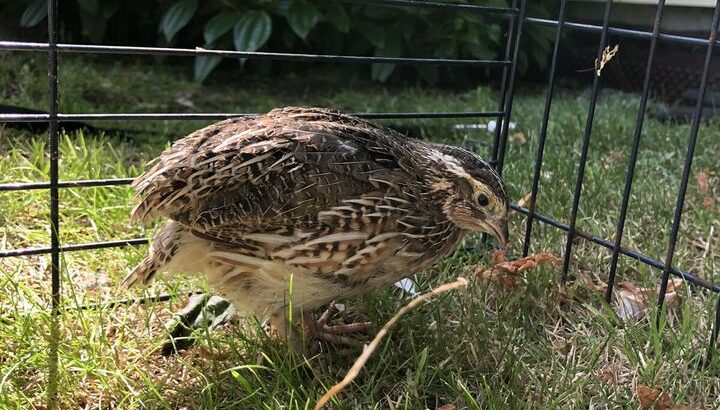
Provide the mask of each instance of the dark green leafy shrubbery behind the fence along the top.
[{"label": "dark green leafy shrubbery behind the fence along the top", "polygon": [[[505,0],[480,3],[507,6]],[[554,1],[538,3],[530,2],[529,14],[554,14]],[[46,0],[16,0],[14,10],[20,27],[42,30]],[[467,59],[500,58],[508,21],[507,16],[493,13],[307,0],[70,0],[61,5],[60,17],[63,41]],[[543,71],[552,32],[526,26],[524,40],[521,72],[529,67]],[[215,56],[197,57],[195,79],[205,80],[221,61]],[[278,63],[240,60],[241,69],[263,74],[272,69],[271,64]],[[369,67],[371,78],[379,82],[396,75],[429,84],[449,76],[453,83],[463,83],[466,78],[489,74],[488,70],[432,66],[400,72],[395,64]]]}]

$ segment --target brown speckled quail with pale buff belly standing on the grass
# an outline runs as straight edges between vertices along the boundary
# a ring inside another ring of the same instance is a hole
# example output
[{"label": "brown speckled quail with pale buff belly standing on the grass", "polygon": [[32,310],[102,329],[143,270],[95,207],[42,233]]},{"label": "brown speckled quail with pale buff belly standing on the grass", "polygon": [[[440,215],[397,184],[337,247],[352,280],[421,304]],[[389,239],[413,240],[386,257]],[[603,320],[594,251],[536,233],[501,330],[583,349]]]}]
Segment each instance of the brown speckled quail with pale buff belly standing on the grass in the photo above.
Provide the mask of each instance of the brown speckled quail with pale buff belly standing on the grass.
[{"label": "brown speckled quail with pale buff belly standing on the grass", "polygon": [[468,232],[508,235],[503,182],[479,156],[319,108],[198,130],[133,186],[133,219],[169,222],[126,286],[204,274],[285,337],[289,304],[307,314],[422,270]]}]

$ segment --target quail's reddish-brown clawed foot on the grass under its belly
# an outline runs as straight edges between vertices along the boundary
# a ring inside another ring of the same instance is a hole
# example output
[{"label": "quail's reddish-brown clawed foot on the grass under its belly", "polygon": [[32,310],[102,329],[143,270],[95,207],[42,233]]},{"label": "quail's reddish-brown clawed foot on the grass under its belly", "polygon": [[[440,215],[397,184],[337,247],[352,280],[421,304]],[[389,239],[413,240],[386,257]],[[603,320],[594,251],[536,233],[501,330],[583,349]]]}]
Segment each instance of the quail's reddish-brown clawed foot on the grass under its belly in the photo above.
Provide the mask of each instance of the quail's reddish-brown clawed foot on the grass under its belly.
[{"label": "quail's reddish-brown clawed foot on the grass under its belly", "polygon": [[[372,322],[357,322],[332,326],[328,325],[330,319],[340,311],[341,310],[335,302],[331,302],[328,309],[323,312],[317,320],[315,320],[310,313],[306,313],[304,315],[303,328],[305,331],[305,339],[311,341],[311,354],[314,355],[320,352],[321,341],[346,348],[360,346],[360,342],[357,339],[353,339],[345,335],[367,332],[372,326]],[[341,353],[345,353],[347,351],[348,349],[343,349]]]}]

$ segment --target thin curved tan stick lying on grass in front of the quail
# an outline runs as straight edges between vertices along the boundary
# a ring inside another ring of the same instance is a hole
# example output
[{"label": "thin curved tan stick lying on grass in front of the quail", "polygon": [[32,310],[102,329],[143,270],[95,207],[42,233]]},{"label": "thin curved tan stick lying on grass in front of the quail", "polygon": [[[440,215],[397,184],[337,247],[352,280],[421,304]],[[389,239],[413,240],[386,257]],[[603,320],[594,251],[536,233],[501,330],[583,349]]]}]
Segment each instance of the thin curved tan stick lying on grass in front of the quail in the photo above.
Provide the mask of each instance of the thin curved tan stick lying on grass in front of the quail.
[{"label": "thin curved tan stick lying on grass in front of the quail", "polygon": [[362,370],[363,366],[365,366],[365,363],[370,359],[370,355],[372,355],[373,351],[378,347],[380,344],[380,341],[385,337],[385,335],[390,331],[390,329],[395,326],[395,324],[400,320],[403,315],[405,315],[407,312],[411,311],[412,309],[416,308],[418,305],[420,305],[422,302],[425,302],[426,300],[443,294],[445,292],[451,291],[455,288],[459,288],[461,286],[467,286],[468,281],[465,278],[457,278],[454,282],[446,283],[442,286],[438,286],[437,288],[431,290],[430,292],[423,293],[422,295],[416,297],[415,299],[411,300],[410,303],[403,306],[402,309],[398,310],[397,313],[395,313],[395,316],[393,316],[386,324],[383,326],[382,329],[378,332],[378,334],[375,336],[372,342],[370,342],[369,345],[365,346],[363,349],[362,354],[355,360],[355,363],[348,371],[347,375],[345,376],[340,383],[334,385],[330,388],[330,390],[325,393],[320,400],[318,400],[317,404],[315,405],[315,410],[318,410],[322,408],[325,404],[327,404],[330,399],[333,398],[336,394],[340,392],[340,390],[344,389],[345,386],[350,384],[355,377],[360,373],[360,370]]}]

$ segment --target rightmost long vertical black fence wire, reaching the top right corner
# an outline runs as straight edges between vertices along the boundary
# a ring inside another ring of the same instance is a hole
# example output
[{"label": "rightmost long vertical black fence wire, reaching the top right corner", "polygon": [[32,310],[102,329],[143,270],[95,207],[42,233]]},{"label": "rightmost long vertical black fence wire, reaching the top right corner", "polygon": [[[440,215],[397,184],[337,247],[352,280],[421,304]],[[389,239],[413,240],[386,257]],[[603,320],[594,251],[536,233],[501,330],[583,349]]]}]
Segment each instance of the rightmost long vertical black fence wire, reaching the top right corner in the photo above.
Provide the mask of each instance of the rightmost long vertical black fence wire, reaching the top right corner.
[{"label": "rightmost long vertical black fence wire, reaching the top right corner", "polygon": [[688,137],[688,148],[687,154],[685,155],[682,178],[680,180],[680,189],[678,190],[677,201],[675,202],[675,215],[673,217],[672,228],[670,230],[670,238],[668,239],[665,266],[663,268],[662,282],[660,283],[660,292],[658,294],[658,326],[660,325],[660,319],[662,317],[662,308],[665,303],[665,292],[667,292],[668,280],[670,279],[673,257],[675,256],[675,245],[677,245],[678,233],[680,231],[680,220],[682,219],[683,206],[685,204],[685,194],[687,192],[690,170],[692,168],[692,161],[695,155],[695,145],[697,143],[698,131],[700,130],[700,122],[702,121],[702,112],[705,103],[705,93],[708,88],[708,77],[710,74],[710,66],[712,64],[713,49],[715,48],[715,43],[717,41],[718,21],[720,21],[720,0],[717,0],[715,4],[715,12],[713,13],[710,36],[708,37],[707,49],[705,51],[705,63],[700,77],[700,89],[698,90],[692,126],[690,127],[690,136]]}]

